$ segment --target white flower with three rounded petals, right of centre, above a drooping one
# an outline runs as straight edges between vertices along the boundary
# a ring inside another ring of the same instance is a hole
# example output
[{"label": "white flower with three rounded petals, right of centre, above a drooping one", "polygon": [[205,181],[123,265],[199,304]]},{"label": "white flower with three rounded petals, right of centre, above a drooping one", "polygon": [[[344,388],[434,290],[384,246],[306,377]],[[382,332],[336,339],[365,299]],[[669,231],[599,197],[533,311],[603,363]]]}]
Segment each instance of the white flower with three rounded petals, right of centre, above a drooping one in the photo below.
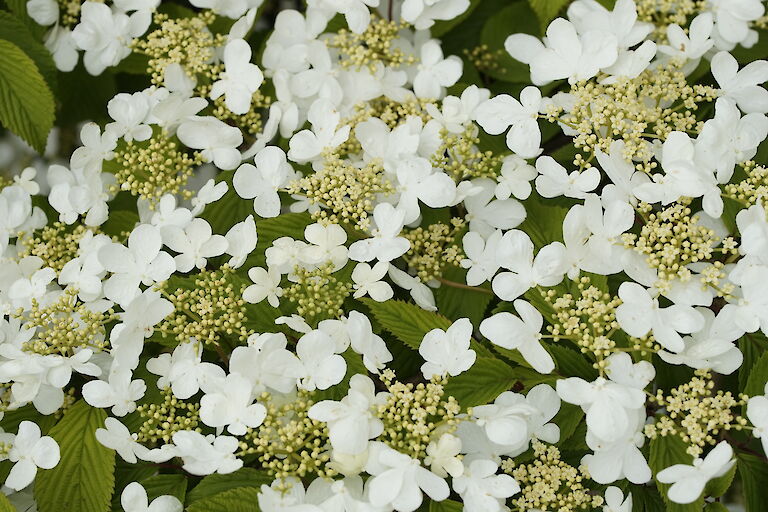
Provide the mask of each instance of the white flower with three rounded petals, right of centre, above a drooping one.
[{"label": "white flower with three rounded petals, right of centre, above a drooping one", "polygon": [[496,261],[510,272],[493,278],[493,291],[502,300],[514,300],[535,286],[555,286],[565,274],[565,246],[552,242],[533,256],[533,242],[525,232],[504,233],[496,247]]}]

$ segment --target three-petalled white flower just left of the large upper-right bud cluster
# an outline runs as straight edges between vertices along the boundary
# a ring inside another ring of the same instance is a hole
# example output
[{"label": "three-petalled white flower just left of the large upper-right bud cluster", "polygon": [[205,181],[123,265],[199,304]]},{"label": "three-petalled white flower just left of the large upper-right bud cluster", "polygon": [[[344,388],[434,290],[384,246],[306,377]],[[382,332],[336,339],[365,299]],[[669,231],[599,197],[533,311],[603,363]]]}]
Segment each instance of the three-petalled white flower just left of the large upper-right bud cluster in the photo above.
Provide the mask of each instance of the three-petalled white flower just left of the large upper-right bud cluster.
[{"label": "three-petalled white flower just left of the large upper-right bud cluster", "polygon": [[491,135],[498,135],[511,126],[507,147],[522,158],[535,158],[542,151],[537,121],[541,103],[541,91],[526,87],[520,93],[520,101],[508,94],[500,94],[481,103],[475,117],[483,130]]}]

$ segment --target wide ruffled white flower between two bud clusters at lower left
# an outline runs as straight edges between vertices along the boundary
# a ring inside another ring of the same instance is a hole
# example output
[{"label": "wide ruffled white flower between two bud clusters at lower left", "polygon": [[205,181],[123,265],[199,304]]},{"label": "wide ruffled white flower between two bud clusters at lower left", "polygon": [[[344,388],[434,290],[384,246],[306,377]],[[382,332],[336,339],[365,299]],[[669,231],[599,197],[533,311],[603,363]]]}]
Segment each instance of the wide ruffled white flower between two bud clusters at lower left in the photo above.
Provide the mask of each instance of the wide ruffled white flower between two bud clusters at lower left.
[{"label": "wide ruffled white flower between two bud clusters at lower left", "polygon": [[175,453],[184,461],[182,468],[192,475],[225,475],[243,467],[235,456],[239,443],[231,436],[204,436],[193,430],[173,434]]}]

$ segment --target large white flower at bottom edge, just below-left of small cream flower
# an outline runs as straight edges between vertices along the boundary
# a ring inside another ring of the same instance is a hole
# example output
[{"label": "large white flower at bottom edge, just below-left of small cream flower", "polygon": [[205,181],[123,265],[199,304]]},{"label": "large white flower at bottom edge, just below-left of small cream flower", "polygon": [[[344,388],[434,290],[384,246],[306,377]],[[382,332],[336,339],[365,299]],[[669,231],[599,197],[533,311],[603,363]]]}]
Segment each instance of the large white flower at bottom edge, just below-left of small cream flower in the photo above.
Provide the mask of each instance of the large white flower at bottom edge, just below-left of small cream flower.
[{"label": "large white flower at bottom edge, just below-left of small cream flower", "polygon": [[372,443],[372,450],[366,471],[373,476],[366,486],[373,506],[413,512],[422,503],[422,492],[434,501],[448,498],[445,480],[422,467],[418,459],[378,442]]}]

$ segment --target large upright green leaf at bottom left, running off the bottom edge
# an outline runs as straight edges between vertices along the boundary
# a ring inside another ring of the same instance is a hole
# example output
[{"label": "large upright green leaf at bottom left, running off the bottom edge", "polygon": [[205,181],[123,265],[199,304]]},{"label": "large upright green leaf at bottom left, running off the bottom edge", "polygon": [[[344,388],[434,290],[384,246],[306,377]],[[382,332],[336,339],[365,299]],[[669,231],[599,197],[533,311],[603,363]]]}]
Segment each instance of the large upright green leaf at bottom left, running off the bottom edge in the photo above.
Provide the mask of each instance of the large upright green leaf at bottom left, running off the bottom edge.
[{"label": "large upright green leaf at bottom left, running off the bottom edge", "polygon": [[61,450],[61,461],[39,471],[35,499],[40,512],[106,512],[115,485],[115,452],[96,441],[107,413],[79,400],[49,435]]}]

